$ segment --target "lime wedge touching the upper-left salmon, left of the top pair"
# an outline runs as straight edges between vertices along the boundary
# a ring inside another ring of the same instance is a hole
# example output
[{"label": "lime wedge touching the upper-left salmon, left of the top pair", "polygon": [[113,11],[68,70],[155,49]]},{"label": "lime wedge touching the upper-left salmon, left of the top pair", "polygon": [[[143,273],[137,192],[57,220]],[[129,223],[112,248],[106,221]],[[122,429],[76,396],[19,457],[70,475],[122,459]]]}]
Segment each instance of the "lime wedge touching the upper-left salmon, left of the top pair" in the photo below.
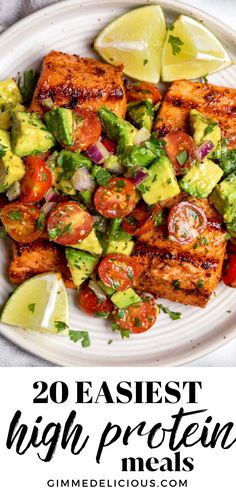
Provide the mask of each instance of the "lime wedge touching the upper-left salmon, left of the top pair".
[{"label": "lime wedge touching the upper-left salmon, left of the top pair", "polygon": [[99,33],[94,48],[107,62],[124,65],[134,79],[158,83],[166,24],[159,5],[131,10]]}]

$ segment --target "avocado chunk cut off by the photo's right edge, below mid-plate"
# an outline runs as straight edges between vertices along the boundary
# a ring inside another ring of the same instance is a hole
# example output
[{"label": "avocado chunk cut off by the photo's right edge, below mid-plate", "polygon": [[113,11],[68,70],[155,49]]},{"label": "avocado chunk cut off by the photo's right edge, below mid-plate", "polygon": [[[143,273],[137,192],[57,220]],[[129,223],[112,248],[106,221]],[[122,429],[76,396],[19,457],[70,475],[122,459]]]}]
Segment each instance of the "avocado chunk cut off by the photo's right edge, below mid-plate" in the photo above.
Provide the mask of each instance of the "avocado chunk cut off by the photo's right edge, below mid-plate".
[{"label": "avocado chunk cut off by the photo's right edge, below mid-plate", "polygon": [[236,172],[217,184],[209,199],[224,221],[232,222],[236,217]]}]

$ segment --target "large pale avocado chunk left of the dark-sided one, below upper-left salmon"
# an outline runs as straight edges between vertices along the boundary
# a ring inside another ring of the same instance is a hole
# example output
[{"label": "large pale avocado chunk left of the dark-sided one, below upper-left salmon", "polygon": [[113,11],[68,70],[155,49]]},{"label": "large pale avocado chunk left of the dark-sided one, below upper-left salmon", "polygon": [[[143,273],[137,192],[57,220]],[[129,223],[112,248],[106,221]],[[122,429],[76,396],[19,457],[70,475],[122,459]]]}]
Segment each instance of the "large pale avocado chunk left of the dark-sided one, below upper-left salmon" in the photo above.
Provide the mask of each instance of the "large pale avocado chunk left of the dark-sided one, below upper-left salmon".
[{"label": "large pale avocado chunk left of the dark-sided one, below upper-left salmon", "polygon": [[52,134],[36,113],[14,112],[12,115],[12,151],[25,157],[36,155],[55,146]]}]

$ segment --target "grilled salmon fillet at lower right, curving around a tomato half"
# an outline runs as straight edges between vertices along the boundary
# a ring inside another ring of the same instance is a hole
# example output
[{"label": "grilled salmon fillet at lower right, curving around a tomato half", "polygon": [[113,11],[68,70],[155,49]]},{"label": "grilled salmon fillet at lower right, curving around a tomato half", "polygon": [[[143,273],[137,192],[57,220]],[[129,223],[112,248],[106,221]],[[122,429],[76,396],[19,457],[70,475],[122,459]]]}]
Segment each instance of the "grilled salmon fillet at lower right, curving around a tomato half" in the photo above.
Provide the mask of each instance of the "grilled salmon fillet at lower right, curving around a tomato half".
[{"label": "grilled salmon fillet at lower right, curving around a tomato half", "polygon": [[143,267],[136,289],[172,301],[206,306],[221,279],[226,251],[222,219],[207,199],[187,197],[201,207],[207,227],[189,244],[168,240],[163,227],[139,236],[133,258]]}]

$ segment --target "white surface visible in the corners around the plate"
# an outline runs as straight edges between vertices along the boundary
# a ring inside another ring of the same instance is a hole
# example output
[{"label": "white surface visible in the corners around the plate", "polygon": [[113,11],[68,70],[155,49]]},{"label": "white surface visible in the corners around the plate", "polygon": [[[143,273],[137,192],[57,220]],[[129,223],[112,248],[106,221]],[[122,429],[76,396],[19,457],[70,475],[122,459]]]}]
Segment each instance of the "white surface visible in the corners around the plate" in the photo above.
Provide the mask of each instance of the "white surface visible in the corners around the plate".
[{"label": "white surface visible in the corners around the plate", "polygon": [[[16,15],[19,18],[22,9],[19,11],[19,4],[25,4],[26,12],[31,12],[33,10],[33,6],[36,5],[36,2],[32,2],[29,0],[15,0],[11,1],[10,4],[17,9],[15,10]],[[53,0],[40,0],[40,4],[49,4],[53,3]],[[235,0],[192,0],[189,2],[185,2],[189,5],[194,5],[210,14],[218,17],[222,20],[222,22],[228,24],[233,29],[236,29],[236,2]],[[9,0],[0,0],[0,20],[1,15],[7,12],[6,6],[9,6]],[[28,10],[27,10],[28,9]],[[14,13],[14,10],[13,10]],[[12,12],[11,12],[12,15]],[[13,14],[14,15],[14,14]],[[12,17],[13,19],[13,17]],[[4,14],[4,24],[7,25],[6,16]],[[0,22],[1,25],[1,22]],[[11,344],[6,339],[0,336],[0,366],[50,366],[50,364],[40,358],[37,358],[14,344]],[[51,365],[52,366],[52,365]],[[197,359],[192,363],[189,363],[186,366],[236,366],[236,339],[226,344],[221,349],[208,354],[207,356]]]}]

